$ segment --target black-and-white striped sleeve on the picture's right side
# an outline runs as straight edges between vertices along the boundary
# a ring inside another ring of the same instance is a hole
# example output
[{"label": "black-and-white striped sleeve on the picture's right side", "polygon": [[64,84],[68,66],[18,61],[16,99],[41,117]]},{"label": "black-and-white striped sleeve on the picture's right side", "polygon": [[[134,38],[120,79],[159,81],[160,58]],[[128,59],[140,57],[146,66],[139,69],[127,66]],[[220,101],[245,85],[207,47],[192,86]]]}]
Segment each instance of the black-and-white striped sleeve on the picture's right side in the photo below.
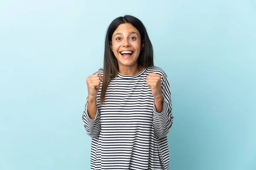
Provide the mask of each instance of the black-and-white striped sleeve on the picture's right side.
[{"label": "black-and-white striped sleeve on the picture's right side", "polygon": [[162,73],[161,78],[163,111],[158,113],[156,111],[155,104],[153,106],[153,126],[154,133],[157,138],[163,138],[167,135],[172,127],[173,121],[170,85],[165,72]]}]

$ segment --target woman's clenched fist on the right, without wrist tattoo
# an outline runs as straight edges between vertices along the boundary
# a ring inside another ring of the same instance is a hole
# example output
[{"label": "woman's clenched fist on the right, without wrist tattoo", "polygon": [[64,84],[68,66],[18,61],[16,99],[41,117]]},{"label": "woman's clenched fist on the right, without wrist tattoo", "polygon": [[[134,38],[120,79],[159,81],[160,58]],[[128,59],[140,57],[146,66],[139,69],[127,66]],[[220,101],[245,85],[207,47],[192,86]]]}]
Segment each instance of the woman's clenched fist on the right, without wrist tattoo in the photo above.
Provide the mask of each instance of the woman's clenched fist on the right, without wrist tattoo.
[{"label": "woman's clenched fist on the right, without wrist tattoo", "polygon": [[146,77],[148,87],[151,88],[154,99],[163,99],[161,89],[161,75],[156,73],[149,73]]}]

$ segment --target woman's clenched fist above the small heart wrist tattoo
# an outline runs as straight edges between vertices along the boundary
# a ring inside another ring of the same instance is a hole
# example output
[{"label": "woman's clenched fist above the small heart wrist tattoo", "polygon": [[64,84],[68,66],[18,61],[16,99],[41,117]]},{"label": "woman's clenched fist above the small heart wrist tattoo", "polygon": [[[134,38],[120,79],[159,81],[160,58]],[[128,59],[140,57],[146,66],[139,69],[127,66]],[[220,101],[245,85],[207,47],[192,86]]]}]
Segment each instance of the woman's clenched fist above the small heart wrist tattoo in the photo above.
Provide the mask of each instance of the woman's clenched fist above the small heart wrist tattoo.
[{"label": "woman's clenched fist above the small heart wrist tattoo", "polygon": [[92,76],[88,76],[86,79],[88,95],[91,97],[97,97],[100,88],[100,82],[102,81],[102,75],[94,74]]}]

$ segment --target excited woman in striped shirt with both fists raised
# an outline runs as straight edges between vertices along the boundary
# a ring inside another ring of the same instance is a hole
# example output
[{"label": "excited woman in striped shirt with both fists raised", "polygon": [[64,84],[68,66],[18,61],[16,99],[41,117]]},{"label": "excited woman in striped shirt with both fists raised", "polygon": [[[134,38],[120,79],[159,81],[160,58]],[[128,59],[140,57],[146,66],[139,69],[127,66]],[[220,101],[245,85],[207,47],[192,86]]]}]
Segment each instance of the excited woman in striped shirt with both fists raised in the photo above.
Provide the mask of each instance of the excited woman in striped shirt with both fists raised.
[{"label": "excited woman in striped shirt with both fists raised", "polygon": [[86,79],[82,119],[91,143],[91,170],[168,170],[172,103],[165,72],[154,66],[143,23],[112,21],[104,66]]}]

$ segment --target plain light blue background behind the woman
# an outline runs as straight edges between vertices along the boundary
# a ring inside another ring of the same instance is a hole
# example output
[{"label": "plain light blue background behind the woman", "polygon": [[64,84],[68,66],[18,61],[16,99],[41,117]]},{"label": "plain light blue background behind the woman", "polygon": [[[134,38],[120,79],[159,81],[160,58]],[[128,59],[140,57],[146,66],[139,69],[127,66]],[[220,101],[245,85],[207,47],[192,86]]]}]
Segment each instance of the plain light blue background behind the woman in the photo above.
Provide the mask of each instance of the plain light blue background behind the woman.
[{"label": "plain light blue background behind the woman", "polygon": [[256,170],[255,0],[1,0],[0,170],[88,170],[108,25],[143,21],[172,91],[170,170]]}]

